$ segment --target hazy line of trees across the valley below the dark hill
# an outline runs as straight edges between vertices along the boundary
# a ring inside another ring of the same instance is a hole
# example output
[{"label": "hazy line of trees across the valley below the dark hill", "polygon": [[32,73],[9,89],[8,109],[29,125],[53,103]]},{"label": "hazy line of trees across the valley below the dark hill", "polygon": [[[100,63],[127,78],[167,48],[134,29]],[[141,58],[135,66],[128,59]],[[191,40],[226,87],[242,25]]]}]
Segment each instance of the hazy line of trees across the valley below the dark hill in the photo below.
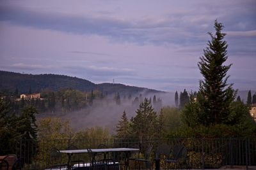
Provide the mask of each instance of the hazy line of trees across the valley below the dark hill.
[{"label": "hazy line of trees across the valley below the dark hill", "polygon": [[[30,88],[29,88],[30,89]],[[143,101],[143,95],[134,96],[129,94],[121,96],[118,92],[115,95],[109,95],[107,92],[99,90],[90,90],[81,92],[75,89],[60,89],[54,92],[49,89],[42,90],[41,98],[20,99],[19,93],[13,96],[12,93],[1,92],[0,96],[10,103],[13,112],[19,114],[22,108],[34,106],[39,113],[70,113],[72,111],[83,110],[88,107],[98,107],[102,104],[115,103],[122,106],[123,103],[129,103],[133,107],[137,107]],[[150,98],[151,101],[151,98]],[[162,100],[156,95],[153,96],[153,104],[156,110],[162,107]]]}]

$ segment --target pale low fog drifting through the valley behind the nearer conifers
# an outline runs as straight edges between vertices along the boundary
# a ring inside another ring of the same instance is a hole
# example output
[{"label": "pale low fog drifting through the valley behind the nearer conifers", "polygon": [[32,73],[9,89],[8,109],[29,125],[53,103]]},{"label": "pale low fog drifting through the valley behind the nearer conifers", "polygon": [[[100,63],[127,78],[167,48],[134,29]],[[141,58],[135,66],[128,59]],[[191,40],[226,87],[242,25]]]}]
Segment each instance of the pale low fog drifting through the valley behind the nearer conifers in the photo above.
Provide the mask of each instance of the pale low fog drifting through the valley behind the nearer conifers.
[{"label": "pale low fog drifting through the valley behind the nearer conifers", "polygon": [[[161,100],[161,104],[153,103],[154,95],[156,99]],[[135,97],[138,97],[139,102],[134,103]],[[162,106],[174,106],[174,94],[173,93],[157,93],[147,94],[147,96],[138,95],[132,96],[132,99],[124,99],[120,96],[121,104],[116,104],[114,97],[108,97],[108,99],[95,100],[92,106],[87,106],[79,111],[61,113],[56,111],[54,113],[40,113],[38,114],[38,120],[43,117],[60,117],[61,119],[67,119],[70,122],[74,131],[81,131],[88,127],[106,127],[109,132],[113,134],[116,130],[116,125],[120,121],[122,114],[125,110],[127,117],[130,119],[136,115],[136,110],[143,99],[147,97],[152,100],[152,106],[154,110],[159,113]]]}]

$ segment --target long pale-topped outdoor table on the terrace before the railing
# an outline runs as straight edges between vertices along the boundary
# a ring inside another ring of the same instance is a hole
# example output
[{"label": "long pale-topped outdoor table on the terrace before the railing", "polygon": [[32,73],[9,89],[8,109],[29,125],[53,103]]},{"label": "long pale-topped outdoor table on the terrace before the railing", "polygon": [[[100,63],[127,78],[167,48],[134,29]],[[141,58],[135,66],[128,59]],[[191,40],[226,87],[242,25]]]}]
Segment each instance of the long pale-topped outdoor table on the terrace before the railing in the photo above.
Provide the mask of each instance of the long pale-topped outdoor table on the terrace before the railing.
[{"label": "long pale-topped outdoor table on the terrace before the railing", "polygon": [[[91,149],[94,155],[97,153],[106,153],[108,152],[124,152],[125,153],[125,169],[127,170],[129,167],[129,153],[131,152],[139,152],[140,149],[138,148],[100,148],[100,149]],[[68,154],[68,165],[70,164],[70,160],[73,154],[76,153],[88,153],[87,149],[81,149],[81,150],[60,150],[61,153],[67,153]]]}]

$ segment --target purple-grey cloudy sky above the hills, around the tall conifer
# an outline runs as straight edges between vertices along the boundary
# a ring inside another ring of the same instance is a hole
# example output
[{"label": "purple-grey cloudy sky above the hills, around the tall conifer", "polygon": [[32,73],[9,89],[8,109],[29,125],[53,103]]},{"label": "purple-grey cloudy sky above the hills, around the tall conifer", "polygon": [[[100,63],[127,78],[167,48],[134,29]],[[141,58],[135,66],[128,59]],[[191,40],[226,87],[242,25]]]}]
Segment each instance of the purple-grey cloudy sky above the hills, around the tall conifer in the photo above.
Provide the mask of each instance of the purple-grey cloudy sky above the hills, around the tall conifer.
[{"label": "purple-grey cloudy sky above the hills, around the tall conifer", "polygon": [[198,90],[207,32],[223,23],[229,83],[256,90],[256,1],[2,1],[0,70]]}]

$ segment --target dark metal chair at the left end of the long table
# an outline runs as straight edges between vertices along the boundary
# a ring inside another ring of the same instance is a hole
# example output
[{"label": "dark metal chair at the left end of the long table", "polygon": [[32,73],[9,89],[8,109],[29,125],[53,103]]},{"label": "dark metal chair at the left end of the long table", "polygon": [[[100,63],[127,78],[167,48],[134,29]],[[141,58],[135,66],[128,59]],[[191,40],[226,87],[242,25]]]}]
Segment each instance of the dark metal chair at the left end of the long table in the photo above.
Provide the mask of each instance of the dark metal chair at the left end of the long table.
[{"label": "dark metal chair at the left end of the long table", "polygon": [[57,148],[51,148],[50,169],[68,169],[68,164],[62,164],[61,152]]}]

